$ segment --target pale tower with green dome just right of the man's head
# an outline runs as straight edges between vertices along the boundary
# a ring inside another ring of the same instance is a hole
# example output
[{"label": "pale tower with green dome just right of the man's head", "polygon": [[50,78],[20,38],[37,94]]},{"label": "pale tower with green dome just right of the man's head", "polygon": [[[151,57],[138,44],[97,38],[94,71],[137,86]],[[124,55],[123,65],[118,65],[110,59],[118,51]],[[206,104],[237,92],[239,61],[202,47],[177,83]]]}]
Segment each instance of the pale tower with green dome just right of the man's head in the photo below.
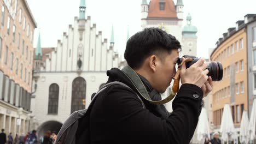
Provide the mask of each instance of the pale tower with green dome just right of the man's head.
[{"label": "pale tower with green dome just right of the man's head", "polygon": [[192,17],[187,16],[187,25],[182,30],[182,53],[183,55],[197,56],[197,28],[191,25]]}]

